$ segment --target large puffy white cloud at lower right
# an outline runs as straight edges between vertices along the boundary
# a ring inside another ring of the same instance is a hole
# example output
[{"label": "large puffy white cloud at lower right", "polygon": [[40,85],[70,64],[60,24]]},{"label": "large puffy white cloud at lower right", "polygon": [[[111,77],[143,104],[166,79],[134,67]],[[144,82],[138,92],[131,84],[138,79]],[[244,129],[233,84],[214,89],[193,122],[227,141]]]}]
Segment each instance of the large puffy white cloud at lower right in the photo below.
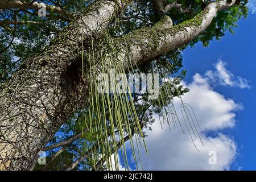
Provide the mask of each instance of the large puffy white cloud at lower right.
[{"label": "large puffy white cloud at lower right", "polygon": [[[184,83],[183,83],[184,84]],[[235,111],[241,109],[231,99],[225,98],[215,92],[209,86],[209,79],[196,74],[191,84],[186,85],[190,92],[184,95],[183,101],[195,110],[200,122],[200,137],[195,138],[195,144],[200,150],[193,146],[188,134],[181,133],[180,127],[170,131],[167,125],[160,126],[158,116],[152,126],[152,131],[147,131],[145,139],[148,156],[142,152],[141,160],[146,170],[225,170],[230,168],[236,158],[237,147],[233,138],[221,134],[222,129],[231,128],[235,125]],[[180,114],[180,100],[174,102],[178,115]],[[184,121],[182,121],[184,125]],[[183,127],[185,128],[185,127]],[[208,132],[214,133],[209,137]],[[209,152],[214,151],[217,155],[216,165],[209,164]]]}]

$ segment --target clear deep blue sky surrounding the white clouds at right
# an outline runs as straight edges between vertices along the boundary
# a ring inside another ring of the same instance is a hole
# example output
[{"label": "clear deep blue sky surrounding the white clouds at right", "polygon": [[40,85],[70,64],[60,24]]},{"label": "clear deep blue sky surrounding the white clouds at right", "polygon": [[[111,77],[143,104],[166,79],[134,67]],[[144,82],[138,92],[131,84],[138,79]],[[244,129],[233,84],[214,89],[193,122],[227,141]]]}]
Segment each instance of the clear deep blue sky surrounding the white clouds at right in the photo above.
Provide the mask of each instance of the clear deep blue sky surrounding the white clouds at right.
[{"label": "clear deep blue sky surrounding the white clouds at right", "polygon": [[204,74],[212,69],[218,59],[228,63],[229,71],[249,81],[250,89],[232,86],[214,86],[216,92],[232,98],[243,105],[236,112],[236,126],[224,133],[233,136],[237,145],[237,156],[232,169],[242,167],[244,170],[256,169],[256,14],[249,14],[245,20],[238,22],[235,35],[226,33],[219,41],[212,41],[209,47],[197,44],[195,48],[184,51],[184,69],[187,70],[186,82],[192,81],[195,73]]}]

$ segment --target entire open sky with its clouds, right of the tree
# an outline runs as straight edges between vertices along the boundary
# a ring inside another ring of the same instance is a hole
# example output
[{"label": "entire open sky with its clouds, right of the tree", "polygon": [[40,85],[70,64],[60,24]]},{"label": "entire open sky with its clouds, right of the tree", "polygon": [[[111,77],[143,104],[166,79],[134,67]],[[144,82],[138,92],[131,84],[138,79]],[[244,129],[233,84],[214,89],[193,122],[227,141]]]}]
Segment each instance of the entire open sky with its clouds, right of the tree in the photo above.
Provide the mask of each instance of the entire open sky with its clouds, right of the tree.
[{"label": "entire open sky with its clouds, right of the tree", "polygon": [[[238,22],[235,35],[226,32],[209,47],[201,43],[183,52],[187,76],[183,82],[191,90],[183,101],[196,111],[201,130],[195,150],[189,135],[179,129],[161,129],[158,117],[147,131],[148,156],[141,151],[147,170],[256,170],[256,1],[250,1],[250,14]],[[180,101],[175,100],[176,108]],[[180,111],[178,111],[180,115]],[[184,125],[184,123],[183,123]],[[217,163],[209,164],[209,152]],[[131,168],[135,168],[132,156]],[[122,167],[122,165],[120,165]]]}]

